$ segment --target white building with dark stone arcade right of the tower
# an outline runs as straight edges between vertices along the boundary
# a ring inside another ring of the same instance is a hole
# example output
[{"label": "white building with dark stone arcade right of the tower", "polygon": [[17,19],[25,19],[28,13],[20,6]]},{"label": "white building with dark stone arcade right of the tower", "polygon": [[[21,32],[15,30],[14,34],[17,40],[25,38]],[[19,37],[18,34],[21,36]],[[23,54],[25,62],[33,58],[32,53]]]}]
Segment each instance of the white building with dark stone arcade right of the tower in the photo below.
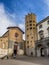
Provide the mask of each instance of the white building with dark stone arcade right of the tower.
[{"label": "white building with dark stone arcade right of the tower", "polygon": [[49,16],[37,23],[36,56],[49,56]]}]

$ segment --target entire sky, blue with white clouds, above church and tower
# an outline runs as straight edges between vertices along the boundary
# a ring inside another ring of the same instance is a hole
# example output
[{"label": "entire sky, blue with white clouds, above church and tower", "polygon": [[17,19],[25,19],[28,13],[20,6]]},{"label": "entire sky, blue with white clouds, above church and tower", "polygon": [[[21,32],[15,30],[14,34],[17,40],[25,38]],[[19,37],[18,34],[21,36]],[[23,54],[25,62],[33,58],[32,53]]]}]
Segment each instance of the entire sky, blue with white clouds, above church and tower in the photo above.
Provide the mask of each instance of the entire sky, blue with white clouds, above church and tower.
[{"label": "entire sky, blue with white clouds, above church and tower", "polygon": [[0,0],[0,35],[12,25],[24,30],[25,15],[31,12],[36,14],[37,22],[49,16],[49,0]]}]

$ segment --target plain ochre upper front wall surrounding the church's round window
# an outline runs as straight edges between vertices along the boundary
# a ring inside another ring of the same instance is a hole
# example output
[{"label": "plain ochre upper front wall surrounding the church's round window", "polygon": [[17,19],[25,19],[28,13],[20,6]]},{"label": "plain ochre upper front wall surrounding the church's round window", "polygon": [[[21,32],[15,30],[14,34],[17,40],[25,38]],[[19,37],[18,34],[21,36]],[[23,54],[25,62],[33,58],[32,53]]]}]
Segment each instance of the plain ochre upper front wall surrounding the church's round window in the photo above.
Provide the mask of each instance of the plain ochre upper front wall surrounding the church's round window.
[{"label": "plain ochre upper front wall surrounding the church's round window", "polygon": [[[18,33],[18,37],[15,37],[15,33]],[[22,42],[23,37],[22,37],[22,32],[17,29],[17,28],[11,28],[9,29],[9,39],[15,42]]]}]

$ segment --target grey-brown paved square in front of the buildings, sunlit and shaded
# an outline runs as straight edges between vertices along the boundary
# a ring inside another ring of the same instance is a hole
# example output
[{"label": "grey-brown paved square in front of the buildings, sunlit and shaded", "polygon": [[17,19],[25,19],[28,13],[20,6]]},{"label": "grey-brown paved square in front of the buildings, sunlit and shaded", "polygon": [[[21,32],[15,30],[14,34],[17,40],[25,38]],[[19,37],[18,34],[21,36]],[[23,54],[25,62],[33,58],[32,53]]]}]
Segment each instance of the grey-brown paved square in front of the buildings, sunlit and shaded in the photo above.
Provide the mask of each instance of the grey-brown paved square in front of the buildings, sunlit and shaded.
[{"label": "grey-brown paved square in front of the buildings, sunlit and shaded", "polygon": [[49,58],[17,56],[16,59],[0,59],[0,65],[49,65]]}]

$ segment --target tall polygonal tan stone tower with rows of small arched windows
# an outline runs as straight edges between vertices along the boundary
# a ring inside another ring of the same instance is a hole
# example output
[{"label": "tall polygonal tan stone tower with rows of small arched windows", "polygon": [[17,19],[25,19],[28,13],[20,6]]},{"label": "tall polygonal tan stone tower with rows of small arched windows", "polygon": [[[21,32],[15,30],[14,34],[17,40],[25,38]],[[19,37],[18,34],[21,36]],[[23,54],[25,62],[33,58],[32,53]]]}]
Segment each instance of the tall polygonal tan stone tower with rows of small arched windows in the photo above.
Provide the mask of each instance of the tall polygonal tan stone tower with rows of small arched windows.
[{"label": "tall polygonal tan stone tower with rows of small arched windows", "polygon": [[25,17],[25,40],[26,40],[26,54],[35,55],[35,40],[36,35],[36,15],[28,14]]}]

